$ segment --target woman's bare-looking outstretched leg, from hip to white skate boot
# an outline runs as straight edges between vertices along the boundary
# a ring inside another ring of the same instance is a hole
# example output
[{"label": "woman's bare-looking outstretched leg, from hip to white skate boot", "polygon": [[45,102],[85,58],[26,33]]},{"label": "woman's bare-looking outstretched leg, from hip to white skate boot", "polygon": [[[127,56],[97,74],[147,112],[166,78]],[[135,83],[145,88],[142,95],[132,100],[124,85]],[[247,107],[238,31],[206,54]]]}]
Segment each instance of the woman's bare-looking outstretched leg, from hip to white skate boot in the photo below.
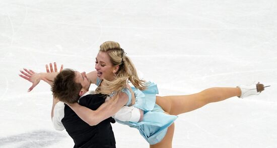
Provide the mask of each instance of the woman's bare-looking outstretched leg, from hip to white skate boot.
[{"label": "woman's bare-looking outstretched leg, from hip to white skate boot", "polygon": [[214,87],[191,95],[156,96],[156,103],[169,114],[178,115],[234,96],[241,96],[240,88]]}]

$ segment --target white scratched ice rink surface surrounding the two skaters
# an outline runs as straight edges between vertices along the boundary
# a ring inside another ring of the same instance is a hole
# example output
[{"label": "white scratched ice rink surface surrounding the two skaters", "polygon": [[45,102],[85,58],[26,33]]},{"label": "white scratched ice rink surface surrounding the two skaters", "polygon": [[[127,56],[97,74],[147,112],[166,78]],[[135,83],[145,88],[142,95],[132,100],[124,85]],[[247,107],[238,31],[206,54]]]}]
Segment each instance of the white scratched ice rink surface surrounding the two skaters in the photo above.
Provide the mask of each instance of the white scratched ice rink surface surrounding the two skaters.
[{"label": "white scratched ice rink surface surrounding the two skaters", "polygon": [[[277,147],[277,1],[8,1],[0,3],[0,147],[73,147],[51,124],[48,84],[33,91],[22,68],[94,70],[104,41],[117,41],[159,95],[260,81],[259,96],[179,115],[173,147]],[[95,88],[95,87],[93,87]],[[92,89],[93,89],[92,88]],[[117,147],[149,147],[113,124]]]}]

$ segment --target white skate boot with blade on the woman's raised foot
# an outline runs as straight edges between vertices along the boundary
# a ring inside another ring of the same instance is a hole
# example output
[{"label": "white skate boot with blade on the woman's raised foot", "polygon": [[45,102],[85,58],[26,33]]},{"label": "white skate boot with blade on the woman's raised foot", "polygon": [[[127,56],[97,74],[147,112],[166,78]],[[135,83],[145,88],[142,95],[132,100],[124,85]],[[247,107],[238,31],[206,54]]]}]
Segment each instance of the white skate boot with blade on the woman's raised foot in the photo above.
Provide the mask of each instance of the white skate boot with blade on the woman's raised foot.
[{"label": "white skate boot with blade on the woman's raised foot", "polygon": [[258,95],[261,93],[261,91],[264,90],[265,87],[269,86],[263,86],[263,84],[260,84],[260,82],[258,82],[251,85],[239,85],[237,87],[239,87],[241,90],[241,96],[239,96],[239,98],[245,98],[250,95]]}]

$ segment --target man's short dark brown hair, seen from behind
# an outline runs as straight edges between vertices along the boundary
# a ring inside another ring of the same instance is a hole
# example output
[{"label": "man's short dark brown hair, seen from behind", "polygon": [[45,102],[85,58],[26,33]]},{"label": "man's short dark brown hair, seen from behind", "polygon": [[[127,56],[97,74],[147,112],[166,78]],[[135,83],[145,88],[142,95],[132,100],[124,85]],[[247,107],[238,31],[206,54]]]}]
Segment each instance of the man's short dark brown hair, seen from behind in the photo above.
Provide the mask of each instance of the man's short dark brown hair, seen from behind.
[{"label": "man's short dark brown hair, seen from behind", "polygon": [[72,69],[62,70],[54,79],[51,91],[54,97],[64,103],[76,103],[82,89],[80,83],[75,82],[76,74]]}]

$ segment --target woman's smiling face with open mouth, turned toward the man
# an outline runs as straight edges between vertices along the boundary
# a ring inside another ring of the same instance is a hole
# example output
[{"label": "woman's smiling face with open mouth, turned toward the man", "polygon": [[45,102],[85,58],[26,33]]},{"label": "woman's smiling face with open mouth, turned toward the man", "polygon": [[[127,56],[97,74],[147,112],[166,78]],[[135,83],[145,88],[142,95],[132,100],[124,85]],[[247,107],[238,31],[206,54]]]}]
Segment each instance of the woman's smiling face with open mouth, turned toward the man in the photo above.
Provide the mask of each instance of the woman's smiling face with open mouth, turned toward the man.
[{"label": "woman's smiling face with open mouth, turned toward the man", "polygon": [[112,65],[107,52],[99,51],[96,56],[95,69],[100,79],[112,81],[114,79],[115,66]]}]

